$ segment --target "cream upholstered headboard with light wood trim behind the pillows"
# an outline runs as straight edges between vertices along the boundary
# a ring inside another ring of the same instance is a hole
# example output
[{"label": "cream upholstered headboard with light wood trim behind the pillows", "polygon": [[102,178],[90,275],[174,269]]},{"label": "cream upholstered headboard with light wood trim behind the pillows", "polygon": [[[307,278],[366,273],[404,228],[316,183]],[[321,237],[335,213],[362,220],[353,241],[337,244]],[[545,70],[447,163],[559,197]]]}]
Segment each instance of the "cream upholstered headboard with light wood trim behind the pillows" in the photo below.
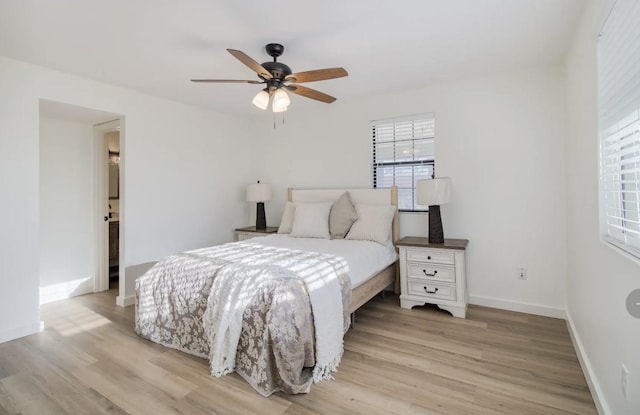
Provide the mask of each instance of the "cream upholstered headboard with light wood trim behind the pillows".
[{"label": "cream upholstered headboard with light wood trim behind the pillows", "polygon": [[393,186],[388,189],[293,189],[289,188],[288,200],[290,202],[333,202],[344,192],[349,192],[351,202],[368,205],[393,205],[396,209],[393,215],[391,238],[393,243],[398,242],[398,188]]}]

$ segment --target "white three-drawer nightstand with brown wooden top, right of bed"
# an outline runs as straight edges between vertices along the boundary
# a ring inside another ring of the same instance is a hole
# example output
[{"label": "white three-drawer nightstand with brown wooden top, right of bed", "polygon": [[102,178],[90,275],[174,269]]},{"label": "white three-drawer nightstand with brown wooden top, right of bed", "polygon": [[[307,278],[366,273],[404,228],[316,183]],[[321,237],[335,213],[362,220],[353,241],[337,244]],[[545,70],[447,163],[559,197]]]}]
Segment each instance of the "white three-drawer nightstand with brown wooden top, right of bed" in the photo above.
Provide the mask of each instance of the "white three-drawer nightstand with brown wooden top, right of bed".
[{"label": "white three-drawer nightstand with brown wooden top, right of bed", "polygon": [[427,238],[407,236],[400,248],[400,307],[436,304],[454,317],[467,313],[466,239],[430,244]]}]

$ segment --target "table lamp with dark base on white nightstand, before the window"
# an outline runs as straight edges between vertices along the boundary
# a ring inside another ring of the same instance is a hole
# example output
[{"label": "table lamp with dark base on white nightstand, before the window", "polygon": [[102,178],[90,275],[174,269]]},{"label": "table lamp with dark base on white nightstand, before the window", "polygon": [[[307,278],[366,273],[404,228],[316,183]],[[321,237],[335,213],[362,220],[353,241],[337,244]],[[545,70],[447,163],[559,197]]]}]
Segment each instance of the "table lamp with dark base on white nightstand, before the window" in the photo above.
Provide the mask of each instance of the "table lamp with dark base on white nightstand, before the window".
[{"label": "table lamp with dark base on white nightstand, before the window", "polygon": [[438,177],[418,180],[416,183],[417,203],[429,206],[429,243],[444,243],[440,205],[449,202],[451,179]]}]

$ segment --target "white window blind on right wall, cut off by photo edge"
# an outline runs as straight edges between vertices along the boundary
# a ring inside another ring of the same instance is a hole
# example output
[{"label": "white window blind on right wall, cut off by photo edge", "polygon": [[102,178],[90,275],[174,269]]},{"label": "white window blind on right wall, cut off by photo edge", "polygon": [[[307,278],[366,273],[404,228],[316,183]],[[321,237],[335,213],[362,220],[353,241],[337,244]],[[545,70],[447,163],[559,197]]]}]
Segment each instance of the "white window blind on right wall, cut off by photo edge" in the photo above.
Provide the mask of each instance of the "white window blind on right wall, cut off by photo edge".
[{"label": "white window blind on right wall, cut off by photo edge", "polygon": [[640,1],[617,0],[598,40],[601,225],[640,258]]}]

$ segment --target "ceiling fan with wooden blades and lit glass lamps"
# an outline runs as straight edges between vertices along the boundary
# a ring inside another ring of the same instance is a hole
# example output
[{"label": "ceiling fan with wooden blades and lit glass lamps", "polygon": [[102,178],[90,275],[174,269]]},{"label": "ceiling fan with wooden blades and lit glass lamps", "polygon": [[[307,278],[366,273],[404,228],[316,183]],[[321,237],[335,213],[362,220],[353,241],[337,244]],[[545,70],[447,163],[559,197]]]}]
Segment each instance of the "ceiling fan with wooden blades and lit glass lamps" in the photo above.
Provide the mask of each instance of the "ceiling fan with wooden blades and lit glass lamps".
[{"label": "ceiling fan with wooden blades and lit glass lamps", "polygon": [[298,84],[341,78],[349,75],[344,68],[316,69],[313,71],[292,73],[291,68],[277,60],[278,56],[282,55],[284,52],[284,46],[279,43],[269,43],[265,46],[265,49],[267,54],[273,57],[273,62],[264,62],[259,64],[242,51],[227,49],[227,51],[236,59],[253,70],[258,75],[258,78],[260,78],[259,81],[239,79],[192,79],[191,82],[264,84],[265,88],[258,92],[255,98],[253,98],[253,105],[266,110],[269,106],[269,100],[273,96],[273,112],[283,112],[287,110],[290,103],[289,96],[285,90],[303,97],[330,104],[336,100],[331,95],[327,95],[323,92]]}]

